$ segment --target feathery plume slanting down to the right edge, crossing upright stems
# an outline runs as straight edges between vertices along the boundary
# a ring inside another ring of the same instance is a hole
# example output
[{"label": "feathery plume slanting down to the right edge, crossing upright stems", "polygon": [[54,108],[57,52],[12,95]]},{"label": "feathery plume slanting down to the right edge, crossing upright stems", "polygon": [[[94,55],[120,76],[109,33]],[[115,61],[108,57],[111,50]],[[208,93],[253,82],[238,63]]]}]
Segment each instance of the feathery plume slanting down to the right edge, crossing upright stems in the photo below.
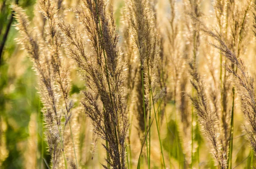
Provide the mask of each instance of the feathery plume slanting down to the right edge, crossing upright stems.
[{"label": "feathery plume slanting down to the right edge, crossing upright stems", "polygon": [[240,71],[238,73],[233,69],[232,66],[225,65],[227,72],[234,75],[237,79],[237,85],[239,89],[239,95],[241,97],[241,107],[244,117],[248,122],[248,127],[245,127],[248,138],[250,140],[251,146],[254,153],[256,152],[256,127],[255,127],[255,118],[256,118],[256,104],[255,104],[255,94],[253,86],[253,77],[247,72],[246,66],[241,58],[238,58],[238,55],[233,53],[226,43],[221,39],[219,34],[215,34],[212,31],[209,31],[205,26],[202,26],[202,30],[206,32],[209,36],[212,36],[217,40],[220,45],[214,45],[215,48],[219,49],[221,53]]}]

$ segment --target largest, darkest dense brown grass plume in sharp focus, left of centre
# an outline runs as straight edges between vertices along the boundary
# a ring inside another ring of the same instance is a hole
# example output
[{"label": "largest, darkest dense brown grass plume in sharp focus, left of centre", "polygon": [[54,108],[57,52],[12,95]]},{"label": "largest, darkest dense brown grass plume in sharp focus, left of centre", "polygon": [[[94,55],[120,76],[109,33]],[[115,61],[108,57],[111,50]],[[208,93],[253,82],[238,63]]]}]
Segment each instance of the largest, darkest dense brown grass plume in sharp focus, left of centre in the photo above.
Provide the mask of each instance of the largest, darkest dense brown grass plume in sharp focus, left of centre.
[{"label": "largest, darkest dense brown grass plume in sharp focus, left of centre", "polygon": [[86,41],[78,28],[63,20],[58,28],[65,39],[69,57],[76,61],[87,87],[82,105],[90,117],[93,132],[106,140],[108,166],[126,169],[125,139],[128,133],[127,103],[125,100],[124,64],[113,19],[113,8],[104,0],[83,0],[80,9],[72,9],[86,31],[92,52],[85,52]]}]

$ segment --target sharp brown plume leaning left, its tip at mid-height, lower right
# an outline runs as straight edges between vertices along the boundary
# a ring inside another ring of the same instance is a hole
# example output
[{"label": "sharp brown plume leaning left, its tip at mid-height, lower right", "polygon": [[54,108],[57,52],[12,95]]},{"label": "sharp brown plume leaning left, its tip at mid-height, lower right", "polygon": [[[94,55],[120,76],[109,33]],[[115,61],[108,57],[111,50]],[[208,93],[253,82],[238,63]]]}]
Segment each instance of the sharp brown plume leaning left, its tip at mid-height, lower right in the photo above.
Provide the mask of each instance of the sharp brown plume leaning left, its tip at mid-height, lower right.
[{"label": "sharp brown plume leaning left, its tip at mid-height, lower right", "polygon": [[[193,106],[195,107],[198,115],[198,122],[204,128],[204,133],[209,140],[210,145],[212,146],[212,153],[215,157],[215,160],[218,163],[218,166],[221,169],[227,168],[227,147],[222,149],[222,143],[226,138],[220,137],[221,127],[220,127],[220,117],[218,113],[218,105],[214,105],[214,109],[211,108],[210,102],[207,98],[205,92],[204,83],[201,80],[200,75],[198,74],[197,69],[195,68],[195,63],[190,62],[190,74],[192,79],[190,82],[195,89],[195,96],[189,96]],[[227,146],[227,145],[226,145]]]}]

